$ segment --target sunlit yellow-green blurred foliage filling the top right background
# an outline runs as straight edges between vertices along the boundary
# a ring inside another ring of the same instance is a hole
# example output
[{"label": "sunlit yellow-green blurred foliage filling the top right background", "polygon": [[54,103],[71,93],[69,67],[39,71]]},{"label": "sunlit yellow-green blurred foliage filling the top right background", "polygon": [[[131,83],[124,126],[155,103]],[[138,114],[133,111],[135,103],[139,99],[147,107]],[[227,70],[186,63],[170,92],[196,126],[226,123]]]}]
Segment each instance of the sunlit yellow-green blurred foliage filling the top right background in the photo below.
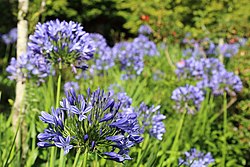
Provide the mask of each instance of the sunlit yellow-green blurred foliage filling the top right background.
[{"label": "sunlit yellow-green blurred foliage filling the top right background", "polygon": [[127,0],[119,4],[119,8],[119,14],[127,20],[124,27],[132,33],[145,22],[140,18],[148,15],[150,19],[146,23],[154,29],[157,39],[170,38],[178,42],[187,32],[198,38],[249,36],[248,0]]}]

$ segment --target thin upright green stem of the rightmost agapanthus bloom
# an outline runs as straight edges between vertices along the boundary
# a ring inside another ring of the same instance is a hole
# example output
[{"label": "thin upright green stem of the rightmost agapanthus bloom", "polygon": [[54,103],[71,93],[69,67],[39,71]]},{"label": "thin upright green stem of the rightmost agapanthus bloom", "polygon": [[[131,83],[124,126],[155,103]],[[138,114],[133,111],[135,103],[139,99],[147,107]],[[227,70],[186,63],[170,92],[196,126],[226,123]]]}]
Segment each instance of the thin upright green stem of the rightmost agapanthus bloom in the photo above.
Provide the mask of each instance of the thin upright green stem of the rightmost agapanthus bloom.
[{"label": "thin upright green stem of the rightmost agapanthus bloom", "polygon": [[222,149],[222,164],[224,167],[226,164],[226,155],[227,155],[227,94],[224,92],[224,101],[223,101],[223,149]]}]

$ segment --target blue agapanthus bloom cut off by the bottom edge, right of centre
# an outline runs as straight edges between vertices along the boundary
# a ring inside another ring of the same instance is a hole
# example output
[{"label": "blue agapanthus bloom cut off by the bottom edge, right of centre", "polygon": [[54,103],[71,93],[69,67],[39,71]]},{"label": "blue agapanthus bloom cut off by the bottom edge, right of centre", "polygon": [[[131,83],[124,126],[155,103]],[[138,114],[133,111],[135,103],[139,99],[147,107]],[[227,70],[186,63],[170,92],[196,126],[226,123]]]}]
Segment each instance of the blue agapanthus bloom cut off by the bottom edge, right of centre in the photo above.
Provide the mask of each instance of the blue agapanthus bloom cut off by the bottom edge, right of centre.
[{"label": "blue agapanthus bloom cut off by the bottom edge, right of centre", "polygon": [[188,167],[208,167],[214,162],[211,153],[202,153],[195,148],[185,152],[185,157],[179,158],[179,166]]}]

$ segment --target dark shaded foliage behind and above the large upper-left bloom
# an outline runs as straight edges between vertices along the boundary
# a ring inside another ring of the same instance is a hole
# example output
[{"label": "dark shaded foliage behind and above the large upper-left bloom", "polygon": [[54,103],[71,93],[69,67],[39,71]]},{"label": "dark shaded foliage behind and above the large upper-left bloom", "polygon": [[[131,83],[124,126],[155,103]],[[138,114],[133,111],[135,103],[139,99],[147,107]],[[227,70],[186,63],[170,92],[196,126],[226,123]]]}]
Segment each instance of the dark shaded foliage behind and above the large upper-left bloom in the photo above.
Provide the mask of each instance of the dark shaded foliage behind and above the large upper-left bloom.
[{"label": "dark shaded foliage behind and above the large upper-left bloom", "polygon": [[103,34],[113,45],[126,31],[117,4],[116,0],[49,0],[43,17],[80,22],[85,30]]}]

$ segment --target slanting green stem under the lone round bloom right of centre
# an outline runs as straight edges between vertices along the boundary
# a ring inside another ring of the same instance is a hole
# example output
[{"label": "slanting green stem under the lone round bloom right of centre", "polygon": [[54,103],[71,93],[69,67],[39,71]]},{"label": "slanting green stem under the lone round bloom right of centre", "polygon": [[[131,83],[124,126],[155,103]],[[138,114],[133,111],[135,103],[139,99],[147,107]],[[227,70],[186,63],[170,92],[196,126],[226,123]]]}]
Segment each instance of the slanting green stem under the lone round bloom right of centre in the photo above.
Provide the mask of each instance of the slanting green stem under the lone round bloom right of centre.
[{"label": "slanting green stem under the lone round bloom right of centre", "polygon": [[183,123],[184,123],[186,113],[187,113],[187,110],[185,110],[183,112],[183,114],[182,114],[180,124],[179,124],[179,127],[177,129],[176,136],[174,138],[174,143],[173,143],[173,146],[171,148],[171,154],[170,154],[170,157],[169,157],[168,167],[171,167],[171,164],[172,164],[172,162],[173,162],[173,160],[174,160],[174,158],[176,156],[176,152],[178,150],[179,137],[180,137],[180,134],[181,134],[181,129],[183,127]]}]

